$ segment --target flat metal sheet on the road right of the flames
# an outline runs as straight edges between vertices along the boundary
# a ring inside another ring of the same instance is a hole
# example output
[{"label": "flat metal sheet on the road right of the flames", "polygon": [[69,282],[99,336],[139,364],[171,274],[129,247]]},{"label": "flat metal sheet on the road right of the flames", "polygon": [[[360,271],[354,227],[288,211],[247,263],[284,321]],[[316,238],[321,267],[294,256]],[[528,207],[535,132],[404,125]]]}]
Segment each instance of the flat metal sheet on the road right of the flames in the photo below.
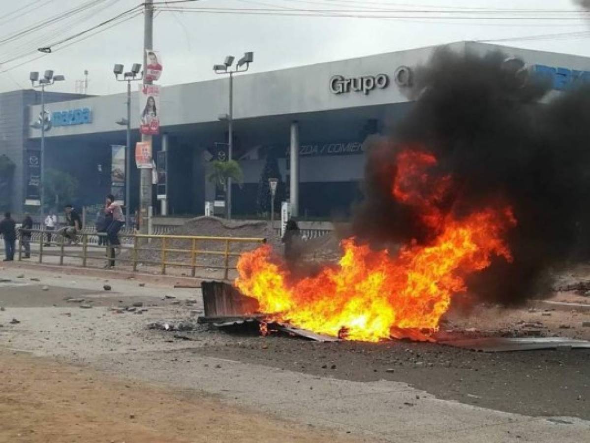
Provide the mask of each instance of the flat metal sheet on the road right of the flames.
[{"label": "flat metal sheet on the road right of the flames", "polygon": [[539,349],[590,349],[586,340],[568,337],[481,337],[438,342],[479,352],[514,352]]}]

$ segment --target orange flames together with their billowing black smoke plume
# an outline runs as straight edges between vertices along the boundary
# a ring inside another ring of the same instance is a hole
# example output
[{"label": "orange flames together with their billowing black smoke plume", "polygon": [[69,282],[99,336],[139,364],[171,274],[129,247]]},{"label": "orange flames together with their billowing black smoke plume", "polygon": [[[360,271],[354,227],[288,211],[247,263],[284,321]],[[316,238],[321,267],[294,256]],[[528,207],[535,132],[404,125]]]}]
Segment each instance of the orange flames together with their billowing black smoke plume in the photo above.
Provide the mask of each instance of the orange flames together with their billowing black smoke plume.
[{"label": "orange flames together with their billowing black smoke plume", "polygon": [[365,199],[337,265],[243,254],[235,287],[276,321],[375,342],[425,339],[454,294],[522,303],[588,255],[590,90],[548,100],[503,54],[447,50],[369,142]]}]

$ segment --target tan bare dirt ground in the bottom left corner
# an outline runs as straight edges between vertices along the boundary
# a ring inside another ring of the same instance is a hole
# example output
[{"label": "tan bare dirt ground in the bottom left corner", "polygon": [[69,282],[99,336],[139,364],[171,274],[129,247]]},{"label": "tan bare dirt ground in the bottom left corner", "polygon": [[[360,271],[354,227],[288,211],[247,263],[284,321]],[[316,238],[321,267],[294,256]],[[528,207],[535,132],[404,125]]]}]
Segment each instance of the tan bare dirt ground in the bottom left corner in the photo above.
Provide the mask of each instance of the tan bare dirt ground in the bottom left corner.
[{"label": "tan bare dirt ground in the bottom left corner", "polygon": [[223,405],[211,396],[114,379],[4,349],[0,379],[1,442],[353,441]]}]

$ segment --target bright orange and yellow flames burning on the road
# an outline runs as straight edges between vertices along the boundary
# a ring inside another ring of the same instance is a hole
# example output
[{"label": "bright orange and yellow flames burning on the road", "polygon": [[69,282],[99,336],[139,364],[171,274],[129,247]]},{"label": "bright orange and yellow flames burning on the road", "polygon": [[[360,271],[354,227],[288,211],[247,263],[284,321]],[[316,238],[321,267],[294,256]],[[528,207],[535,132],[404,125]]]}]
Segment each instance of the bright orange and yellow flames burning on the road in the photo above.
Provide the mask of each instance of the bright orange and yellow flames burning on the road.
[{"label": "bright orange and yellow flames burning on the road", "polygon": [[436,165],[424,150],[404,150],[391,182],[392,198],[417,209],[432,232],[427,245],[412,241],[393,253],[348,238],[337,265],[325,265],[308,277],[291,274],[264,245],[240,257],[235,286],[275,320],[316,333],[376,342],[419,339],[425,337],[421,333],[436,331],[453,294],[467,290],[468,274],[488,267],[493,255],[512,260],[502,236],[516,224],[507,206],[489,206],[461,218],[441,211],[452,179],[429,175]]}]

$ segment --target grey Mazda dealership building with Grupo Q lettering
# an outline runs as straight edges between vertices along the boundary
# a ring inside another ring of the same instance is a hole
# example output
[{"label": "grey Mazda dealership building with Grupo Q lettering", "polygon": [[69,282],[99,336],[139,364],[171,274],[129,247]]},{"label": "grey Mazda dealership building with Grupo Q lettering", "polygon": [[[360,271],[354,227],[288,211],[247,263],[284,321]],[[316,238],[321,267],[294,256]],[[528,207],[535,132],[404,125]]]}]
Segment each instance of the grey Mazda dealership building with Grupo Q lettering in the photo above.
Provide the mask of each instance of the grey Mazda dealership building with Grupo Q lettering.
[{"label": "grey Mazda dealership building with Grupo Q lettering", "polygon": [[[478,54],[500,50],[551,76],[558,90],[590,77],[590,58],[476,42],[450,47]],[[408,110],[412,75],[435,50],[418,48],[235,77],[234,159],[240,161],[244,184],[232,188],[234,215],[257,212],[258,187],[269,163],[278,165],[281,198],[290,199],[299,216],[348,214],[360,198],[363,142],[371,134],[387,133]],[[228,113],[228,88],[227,78],[161,88],[160,134],[153,136],[153,157],[157,159],[165,147],[169,214],[203,214],[205,202],[215,198],[206,176],[209,162],[226,155],[227,120],[220,116]],[[34,91],[6,94],[17,93]],[[12,209],[22,212],[27,199],[26,152],[40,147],[41,132],[31,127],[40,106],[23,100],[7,107],[2,98],[6,94],[0,94],[0,155],[17,165]],[[126,127],[117,124],[126,115],[126,94],[68,98],[47,105],[53,122],[45,133],[45,164],[78,179],[74,204],[96,204],[113,185],[112,146],[126,143]],[[132,147],[140,139],[137,100],[134,92]],[[22,117],[14,134],[7,129],[7,114],[13,120]],[[131,206],[136,208],[135,160],[131,169]],[[158,193],[154,189],[156,213]]]}]

